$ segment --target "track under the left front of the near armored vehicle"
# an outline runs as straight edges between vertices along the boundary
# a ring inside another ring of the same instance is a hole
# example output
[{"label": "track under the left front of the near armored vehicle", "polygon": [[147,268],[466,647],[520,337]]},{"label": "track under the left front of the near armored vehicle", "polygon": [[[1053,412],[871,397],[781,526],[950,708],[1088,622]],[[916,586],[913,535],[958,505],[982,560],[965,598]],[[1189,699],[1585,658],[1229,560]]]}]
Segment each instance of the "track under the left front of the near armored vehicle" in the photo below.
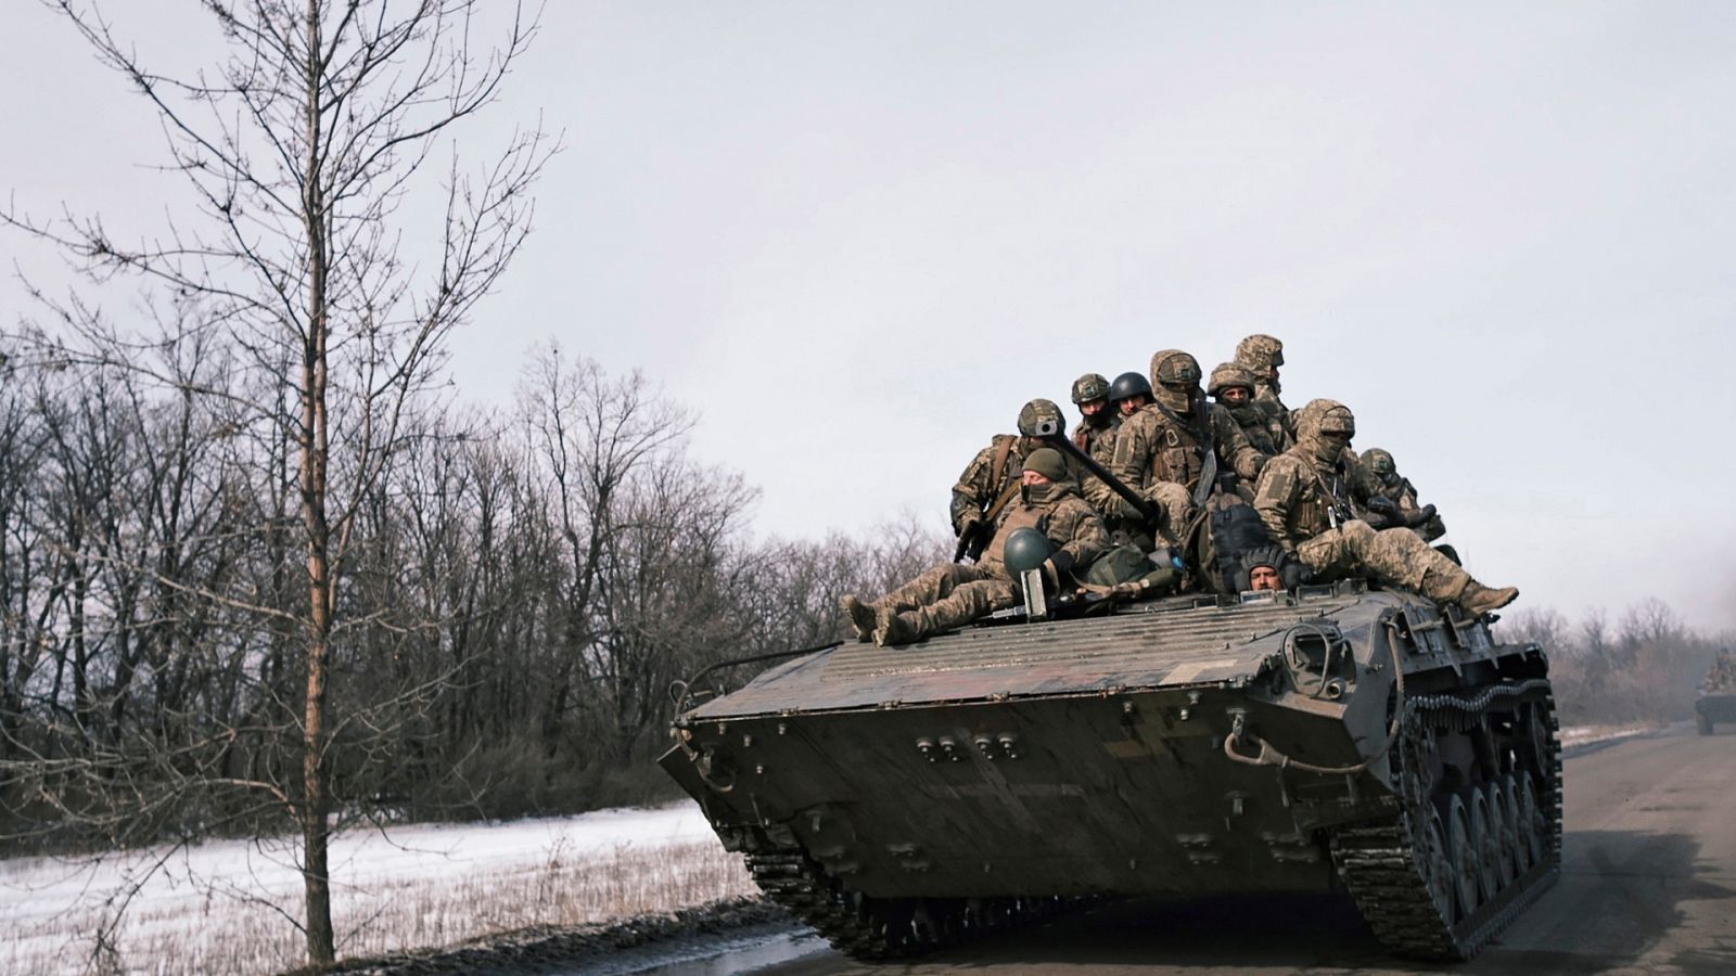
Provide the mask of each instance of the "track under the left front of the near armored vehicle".
[{"label": "track under the left front of the near armored vehicle", "polygon": [[773,901],[838,952],[884,960],[934,952],[1047,919],[1085,898],[870,898],[845,889],[799,851],[748,853],[748,872]]}]

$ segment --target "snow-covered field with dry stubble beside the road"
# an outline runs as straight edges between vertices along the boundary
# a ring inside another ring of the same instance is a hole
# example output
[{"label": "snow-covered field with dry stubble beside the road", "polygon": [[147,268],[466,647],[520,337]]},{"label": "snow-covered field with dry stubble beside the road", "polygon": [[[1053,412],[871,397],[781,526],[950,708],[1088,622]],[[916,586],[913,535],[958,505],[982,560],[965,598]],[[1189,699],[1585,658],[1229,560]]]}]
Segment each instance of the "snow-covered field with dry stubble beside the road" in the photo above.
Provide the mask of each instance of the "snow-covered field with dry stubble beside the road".
[{"label": "snow-covered field with dry stubble beside the road", "polygon": [[[1569,728],[1573,748],[1647,731]],[[302,960],[293,839],[0,861],[0,973],[273,973]],[[575,926],[753,891],[681,802],[351,832],[332,846],[339,955]]]}]

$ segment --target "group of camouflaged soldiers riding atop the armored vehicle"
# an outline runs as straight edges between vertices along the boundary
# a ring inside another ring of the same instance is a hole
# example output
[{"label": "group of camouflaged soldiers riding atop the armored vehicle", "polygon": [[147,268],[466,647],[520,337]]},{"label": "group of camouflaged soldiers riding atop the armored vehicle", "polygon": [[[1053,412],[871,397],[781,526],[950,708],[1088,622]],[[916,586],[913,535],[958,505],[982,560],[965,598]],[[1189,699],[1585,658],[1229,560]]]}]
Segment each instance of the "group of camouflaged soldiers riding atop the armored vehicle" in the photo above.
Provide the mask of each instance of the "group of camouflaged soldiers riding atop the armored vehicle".
[{"label": "group of camouflaged soldiers riding atop the armored vehicle", "polygon": [[1364,577],[1470,615],[1512,603],[1517,589],[1484,587],[1450,549],[1429,545],[1444,524],[1391,453],[1351,450],[1347,406],[1285,406],[1283,365],[1283,342],[1250,335],[1205,389],[1200,363],[1179,349],[1153,354],[1144,375],[1087,373],[1073,382],[1071,457],[1050,446],[1066,424],[1061,406],[1026,403],[1019,434],[995,436],[953,486],[955,561],[871,603],[844,596],[856,637],[903,644],[1016,606],[1007,552],[1019,530],[1047,540],[1040,568],[1057,590],[1083,584],[1094,564],[1127,564],[1109,554],[1137,551],[1144,584],[1165,590]]}]

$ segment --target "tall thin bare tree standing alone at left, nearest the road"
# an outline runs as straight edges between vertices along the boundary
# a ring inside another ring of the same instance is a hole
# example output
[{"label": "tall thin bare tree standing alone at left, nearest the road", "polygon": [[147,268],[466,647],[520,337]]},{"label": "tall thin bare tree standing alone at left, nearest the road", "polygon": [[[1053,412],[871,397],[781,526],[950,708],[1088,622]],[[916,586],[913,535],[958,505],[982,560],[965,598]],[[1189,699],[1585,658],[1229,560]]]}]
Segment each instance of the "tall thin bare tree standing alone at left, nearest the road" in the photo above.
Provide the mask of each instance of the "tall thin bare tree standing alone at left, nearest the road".
[{"label": "tall thin bare tree standing alone at left, nearest the road", "polygon": [[[229,43],[227,59],[170,76],[144,64],[95,5],[45,2],[156,113],[167,170],[184,179],[200,214],[137,238],[113,233],[99,215],[40,221],[7,210],[0,219],[59,245],[94,280],[135,276],[165,302],[198,309],[200,328],[219,333],[238,368],[259,380],[260,396],[243,405],[241,420],[293,452],[304,566],[292,613],[300,773],[292,788],[262,787],[300,825],[307,955],[330,964],[328,702],[345,632],[339,587],[358,507],[394,464],[406,410],[436,379],[450,332],[528,233],[528,189],[550,141],[540,130],[516,134],[469,174],[450,134],[496,99],[535,24],[517,5],[483,17],[479,0],[210,0],[203,5]],[[490,31],[498,31],[495,47],[476,40]],[[427,165],[444,153],[450,167]],[[437,186],[429,174],[443,177]],[[443,201],[437,247],[404,254],[406,222],[429,189]],[[36,361],[146,368],[139,353],[155,335],[125,333],[78,297],[40,297],[61,325],[35,335]]]}]

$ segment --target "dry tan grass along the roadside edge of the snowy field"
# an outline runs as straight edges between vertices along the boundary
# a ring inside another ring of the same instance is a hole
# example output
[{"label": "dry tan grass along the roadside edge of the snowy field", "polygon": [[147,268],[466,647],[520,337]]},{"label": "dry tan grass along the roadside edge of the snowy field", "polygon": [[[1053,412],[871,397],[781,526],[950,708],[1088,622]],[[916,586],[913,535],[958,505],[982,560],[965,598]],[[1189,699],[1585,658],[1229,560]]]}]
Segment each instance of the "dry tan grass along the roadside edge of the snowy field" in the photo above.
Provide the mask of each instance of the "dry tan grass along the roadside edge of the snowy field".
[{"label": "dry tan grass along the roadside edge of the snowy field", "polygon": [[[531,926],[571,927],[755,894],[740,854],[717,842],[611,851],[549,851],[535,870],[458,879],[392,879],[333,893],[339,955],[444,946]],[[113,941],[106,910],[52,919],[49,931],[9,933],[3,973],[279,973],[300,966],[300,933],[271,905],[207,891],[203,910],[151,915],[135,907]],[[299,903],[283,905],[288,913]]]}]

